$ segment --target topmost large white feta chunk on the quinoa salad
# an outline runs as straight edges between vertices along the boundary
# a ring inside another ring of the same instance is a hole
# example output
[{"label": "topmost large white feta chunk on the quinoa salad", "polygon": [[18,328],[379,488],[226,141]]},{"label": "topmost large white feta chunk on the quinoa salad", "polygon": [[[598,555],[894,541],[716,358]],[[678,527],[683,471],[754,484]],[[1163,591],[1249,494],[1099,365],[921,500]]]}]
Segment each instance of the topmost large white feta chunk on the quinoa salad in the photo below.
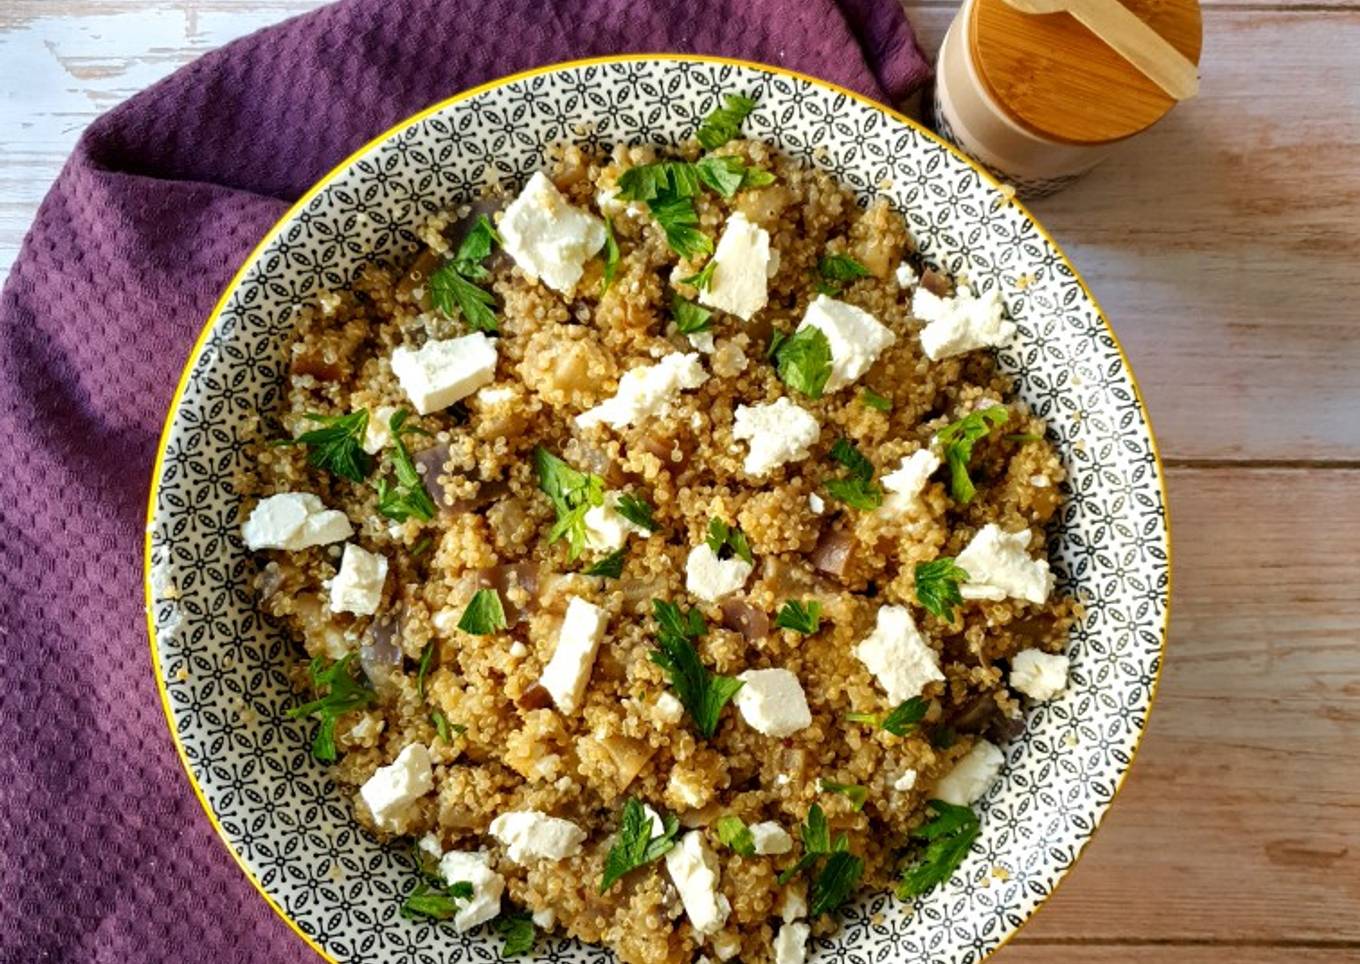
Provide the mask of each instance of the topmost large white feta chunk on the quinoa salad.
[{"label": "topmost large white feta chunk on the quinoa salad", "polygon": [[505,250],[530,281],[570,295],[585,264],[604,247],[604,222],[573,207],[539,171],[500,218]]}]

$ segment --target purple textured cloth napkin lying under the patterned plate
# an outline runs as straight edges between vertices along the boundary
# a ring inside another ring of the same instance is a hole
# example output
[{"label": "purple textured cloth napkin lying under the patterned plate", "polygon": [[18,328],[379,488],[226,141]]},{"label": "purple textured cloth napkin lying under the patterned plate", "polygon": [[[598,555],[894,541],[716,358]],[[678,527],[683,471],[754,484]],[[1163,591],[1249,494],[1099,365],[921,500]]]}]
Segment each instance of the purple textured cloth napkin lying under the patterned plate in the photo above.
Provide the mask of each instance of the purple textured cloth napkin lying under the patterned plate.
[{"label": "purple textured cloth napkin lying under the patterned plate", "polygon": [[95,121],[0,295],[0,961],[316,960],[234,866],[160,712],[141,598],[156,436],[288,203],[465,87],[607,53],[926,80],[896,0],[348,0]]}]

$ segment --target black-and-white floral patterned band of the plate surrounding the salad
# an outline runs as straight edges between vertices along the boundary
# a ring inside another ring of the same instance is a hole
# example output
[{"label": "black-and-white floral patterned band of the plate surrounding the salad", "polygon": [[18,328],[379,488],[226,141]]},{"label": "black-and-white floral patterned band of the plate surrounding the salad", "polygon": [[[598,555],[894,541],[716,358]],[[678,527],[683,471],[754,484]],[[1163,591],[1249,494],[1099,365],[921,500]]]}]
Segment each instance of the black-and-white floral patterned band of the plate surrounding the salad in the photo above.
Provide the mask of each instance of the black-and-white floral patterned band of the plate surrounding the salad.
[{"label": "black-and-white floral patterned band of the plate surrounding the salad", "polygon": [[[1000,352],[1043,415],[1070,481],[1054,567],[1085,602],[1072,685],[1028,711],[1004,779],[978,804],[982,833],[955,880],[913,906],[862,900],[816,941],[817,960],[985,957],[1053,891],[1129,767],[1157,677],[1167,613],[1167,518],[1146,415],[1114,334],[1062,253],[994,182],[932,136],[850,94],[756,67],[691,58],[586,63],[521,76],[447,103],[371,145],[295,209],[211,321],[171,413],[155,480],[148,594],[156,672],[175,740],[228,843],[260,888],[333,959],[494,960],[487,934],[404,920],[412,870],[369,839],[326,767],[284,676],[288,643],[252,600],[233,476],[284,377],[291,318],[367,258],[415,245],[427,213],[518,184],[556,143],[672,143],[724,92],[759,101],[748,131],[885,194],[928,261],[1000,287],[1019,325]],[[608,953],[574,942],[541,960]]]}]

